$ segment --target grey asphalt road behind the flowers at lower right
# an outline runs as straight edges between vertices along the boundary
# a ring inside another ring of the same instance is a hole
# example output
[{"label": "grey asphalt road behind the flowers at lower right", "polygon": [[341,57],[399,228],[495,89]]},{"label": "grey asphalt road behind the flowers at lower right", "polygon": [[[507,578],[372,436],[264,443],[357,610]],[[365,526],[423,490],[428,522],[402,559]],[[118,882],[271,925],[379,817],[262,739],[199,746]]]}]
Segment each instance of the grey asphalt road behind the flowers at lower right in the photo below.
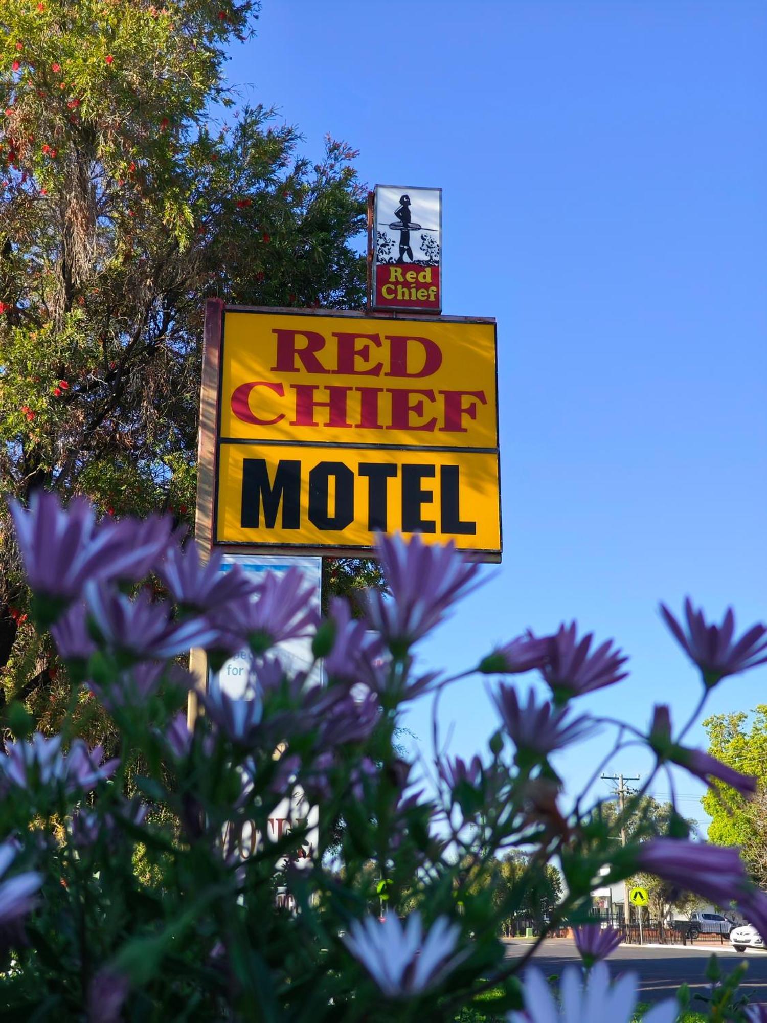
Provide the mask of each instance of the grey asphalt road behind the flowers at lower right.
[{"label": "grey asphalt road behind the flowers at lower right", "polygon": [[[524,955],[529,947],[530,941],[510,941],[506,955]],[[620,945],[607,964],[613,976],[629,971],[637,973],[640,1000],[656,1002],[674,994],[685,982],[689,984],[692,995],[696,991],[703,993],[709,986],[706,964],[712,952],[719,957],[723,974],[730,973],[737,963],[745,960],[749,965],[743,980],[745,990],[753,1002],[767,1003],[767,952],[738,954],[727,945],[665,948]],[[580,957],[571,939],[550,938],[536,949],[533,962],[544,974],[558,974],[568,963],[579,963]]]}]

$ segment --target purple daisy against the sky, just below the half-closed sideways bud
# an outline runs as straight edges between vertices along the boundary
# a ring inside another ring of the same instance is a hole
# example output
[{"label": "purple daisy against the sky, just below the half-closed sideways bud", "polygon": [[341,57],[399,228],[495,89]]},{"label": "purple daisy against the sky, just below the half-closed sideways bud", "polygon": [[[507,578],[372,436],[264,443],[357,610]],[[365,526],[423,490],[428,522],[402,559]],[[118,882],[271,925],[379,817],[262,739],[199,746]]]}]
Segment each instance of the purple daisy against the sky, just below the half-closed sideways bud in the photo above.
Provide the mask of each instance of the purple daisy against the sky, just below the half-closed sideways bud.
[{"label": "purple daisy against the sky, just below the half-closed sideways bud", "polygon": [[567,710],[554,710],[546,701],[536,704],[535,694],[528,694],[527,704],[521,704],[513,685],[501,684],[493,700],[498,713],[517,750],[517,759],[547,756],[554,750],[587,736],[594,728],[591,718],[582,716],[568,720]]}]

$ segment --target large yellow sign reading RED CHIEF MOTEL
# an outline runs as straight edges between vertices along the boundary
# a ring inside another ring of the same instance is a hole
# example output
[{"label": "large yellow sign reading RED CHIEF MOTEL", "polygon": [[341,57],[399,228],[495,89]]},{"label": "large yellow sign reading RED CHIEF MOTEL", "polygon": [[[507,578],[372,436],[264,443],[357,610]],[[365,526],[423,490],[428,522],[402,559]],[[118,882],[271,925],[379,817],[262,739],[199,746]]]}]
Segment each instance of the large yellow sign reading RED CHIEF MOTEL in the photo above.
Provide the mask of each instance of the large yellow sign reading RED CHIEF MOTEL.
[{"label": "large yellow sign reading RED CHIEF MOTEL", "polygon": [[494,320],[209,303],[206,363],[213,542],[361,553],[417,532],[500,560]]}]

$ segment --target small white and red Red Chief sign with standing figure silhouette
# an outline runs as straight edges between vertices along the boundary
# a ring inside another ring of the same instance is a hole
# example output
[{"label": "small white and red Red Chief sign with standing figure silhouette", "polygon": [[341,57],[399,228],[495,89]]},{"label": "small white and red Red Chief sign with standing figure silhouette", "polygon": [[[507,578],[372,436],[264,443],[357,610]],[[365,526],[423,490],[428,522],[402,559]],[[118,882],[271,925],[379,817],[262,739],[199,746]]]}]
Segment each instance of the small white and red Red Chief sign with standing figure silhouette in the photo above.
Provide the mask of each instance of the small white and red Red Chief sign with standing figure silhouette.
[{"label": "small white and red Red Chief sign with standing figure silhouette", "polygon": [[373,309],[442,309],[442,189],[376,185],[370,231]]}]

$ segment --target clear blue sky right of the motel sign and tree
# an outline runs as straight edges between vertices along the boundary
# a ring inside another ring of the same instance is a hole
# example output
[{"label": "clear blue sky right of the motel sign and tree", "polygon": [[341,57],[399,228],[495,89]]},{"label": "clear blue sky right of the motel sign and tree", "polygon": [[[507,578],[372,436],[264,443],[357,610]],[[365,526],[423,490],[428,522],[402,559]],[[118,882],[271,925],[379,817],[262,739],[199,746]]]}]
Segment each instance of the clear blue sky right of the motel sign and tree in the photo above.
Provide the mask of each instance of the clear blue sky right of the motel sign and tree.
[{"label": "clear blue sky right of the motel sign and tree", "polygon": [[[371,185],[443,187],[444,312],[498,320],[503,564],[431,664],[575,617],[631,655],[583,709],[642,724],[663,701],[681,721],[700,683],[658,601],[767,618],[766,39],[749,0],[265,0],[232,50],[232,84],[305,151],[329,132]],[[710,707],[760,702],[764,669]],[[408,717],[426,754],[431,711]],[[483,747],[482,681],[440,721],[452,752]],[[561,755],[569,792],[603,744]]]}]

